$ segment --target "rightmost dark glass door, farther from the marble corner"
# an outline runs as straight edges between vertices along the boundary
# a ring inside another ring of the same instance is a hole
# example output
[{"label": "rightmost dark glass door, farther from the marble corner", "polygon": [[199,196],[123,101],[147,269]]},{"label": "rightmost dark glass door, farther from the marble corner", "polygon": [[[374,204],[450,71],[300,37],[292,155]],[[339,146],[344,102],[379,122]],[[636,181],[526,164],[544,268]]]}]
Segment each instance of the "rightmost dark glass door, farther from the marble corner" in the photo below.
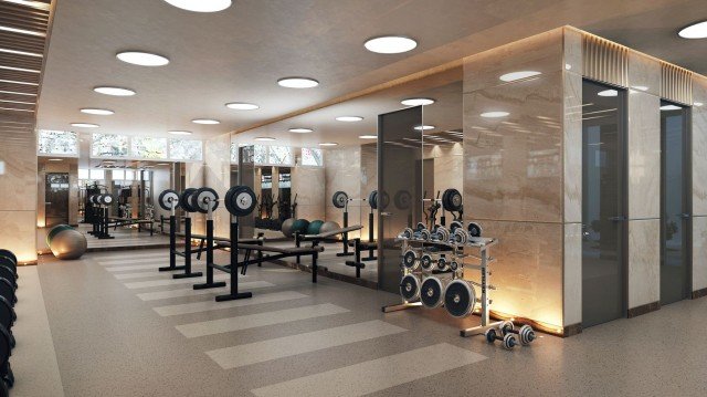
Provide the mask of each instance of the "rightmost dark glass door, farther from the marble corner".
[{"label": "rightmost dark glass door, farther from the marble corner", "polygon": [[688,112],[661,103],[661,304],[682,301],[692,291]]}]

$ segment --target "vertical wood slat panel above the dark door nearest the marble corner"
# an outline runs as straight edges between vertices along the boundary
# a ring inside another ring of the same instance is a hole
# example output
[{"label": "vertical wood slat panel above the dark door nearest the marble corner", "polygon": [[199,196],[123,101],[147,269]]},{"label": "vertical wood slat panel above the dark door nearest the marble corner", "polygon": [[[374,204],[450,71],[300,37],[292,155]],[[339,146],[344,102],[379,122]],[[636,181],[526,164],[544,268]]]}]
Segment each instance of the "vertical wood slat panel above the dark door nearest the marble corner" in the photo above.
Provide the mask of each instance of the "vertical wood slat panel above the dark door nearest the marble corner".
[{"label": "vertical wood slat panel above the dark door nearest the marble corner", "polygon": [[629,49],[591,34],[582,35],[582,74],[622,87],[629,85]]}]

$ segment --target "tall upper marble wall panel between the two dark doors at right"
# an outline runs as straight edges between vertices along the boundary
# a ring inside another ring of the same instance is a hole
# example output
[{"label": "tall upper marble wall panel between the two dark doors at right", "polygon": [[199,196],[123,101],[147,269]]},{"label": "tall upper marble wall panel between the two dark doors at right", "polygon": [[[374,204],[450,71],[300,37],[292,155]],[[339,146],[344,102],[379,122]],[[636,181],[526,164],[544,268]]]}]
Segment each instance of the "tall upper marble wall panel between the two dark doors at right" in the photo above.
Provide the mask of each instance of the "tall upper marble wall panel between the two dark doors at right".
[{"label": "tall upper marble wall panel between the two dark doors at right", "polygon": [[661,217],[661,100],[629,95],[629,218]]}]

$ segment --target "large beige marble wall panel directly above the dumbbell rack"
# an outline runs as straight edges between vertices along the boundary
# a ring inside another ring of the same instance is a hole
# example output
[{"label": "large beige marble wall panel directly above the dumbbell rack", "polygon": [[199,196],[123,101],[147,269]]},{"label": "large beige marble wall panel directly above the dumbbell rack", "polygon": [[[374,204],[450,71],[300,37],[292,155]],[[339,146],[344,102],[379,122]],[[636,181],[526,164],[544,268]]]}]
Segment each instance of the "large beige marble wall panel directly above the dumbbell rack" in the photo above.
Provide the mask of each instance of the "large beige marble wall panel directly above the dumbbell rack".
[{"label": "large beige marble wall panel directly above the dumbbell rack", "polygon": [[[464,202],[475,218],[561,222],[562,72],[464,95]],[[508,112],[499,118],[481,114]]]}]

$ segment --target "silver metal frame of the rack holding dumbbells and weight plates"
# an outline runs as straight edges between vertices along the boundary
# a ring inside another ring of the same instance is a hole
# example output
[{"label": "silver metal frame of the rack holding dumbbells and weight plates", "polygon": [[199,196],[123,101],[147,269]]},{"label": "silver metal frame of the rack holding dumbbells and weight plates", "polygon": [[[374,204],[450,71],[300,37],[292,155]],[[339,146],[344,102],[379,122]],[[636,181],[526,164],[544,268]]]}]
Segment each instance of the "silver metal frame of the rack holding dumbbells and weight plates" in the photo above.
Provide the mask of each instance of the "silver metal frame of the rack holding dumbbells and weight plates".
[{"label": "silver metal frame of the rack holding dumbbells and weight plates", "polygon": [[[405,252],[411,248],[422,249],[424,251],[426,247],[436,247],[436,248],[443,248],[447,250],[451,249],[451,253],[457,258],[471,257],[479,260],[479,264],[462,264],[461,262],[460,269],[454,272],[455,279],[457,278],[457,273],[461,273],[463,278],[464,269],[476,269],[481,272],[481,283],[473,283],[473,284],[476,284],[476,286],[478,286],[482,292],[481,297],[476,300],[481,304],[481,309],[482,309],[479,313],[482,318],[482,324],[479,326],[460,330],[461,336],[466,337],[466,336],[473,336],[473,335],[481,335],[481,334],[484,334],[489,328],[498,327],[503,323],[500,321],[493,322],[493,323],[490,322],[490,304],[493,301],[490,299],[489,291],[495,290],[495,288],[493,288],[489,284],[489,278],[490,278],[489,264],[494,262],[494,259],[490,257],[490,248],[498,243],[497,239],[483,238],[483,237],[469,237],[468,241],[463,245],[444,242],[444,241],[428,241],[428,240],[405,239],[405,238],[397,238],[395,241],[401,242],[401,252]],[[465,255],[464,248],[475,249],[477,253],[471,253],[468,255]],[[413,273],[413,271],[408,270],[402,264],[401,264],[401,268],[403,270],[403,274],[402,274],[403,278],[408,274]],[[422,306],[422,302],[420,301],[408,302],[404,299],[402,299],[402,303],[383,306],[382,311],[383,313],[391,313],[391,312],[398,312],[398,311],[408,310],[411,307],[420,307],[420,306]]]}]

